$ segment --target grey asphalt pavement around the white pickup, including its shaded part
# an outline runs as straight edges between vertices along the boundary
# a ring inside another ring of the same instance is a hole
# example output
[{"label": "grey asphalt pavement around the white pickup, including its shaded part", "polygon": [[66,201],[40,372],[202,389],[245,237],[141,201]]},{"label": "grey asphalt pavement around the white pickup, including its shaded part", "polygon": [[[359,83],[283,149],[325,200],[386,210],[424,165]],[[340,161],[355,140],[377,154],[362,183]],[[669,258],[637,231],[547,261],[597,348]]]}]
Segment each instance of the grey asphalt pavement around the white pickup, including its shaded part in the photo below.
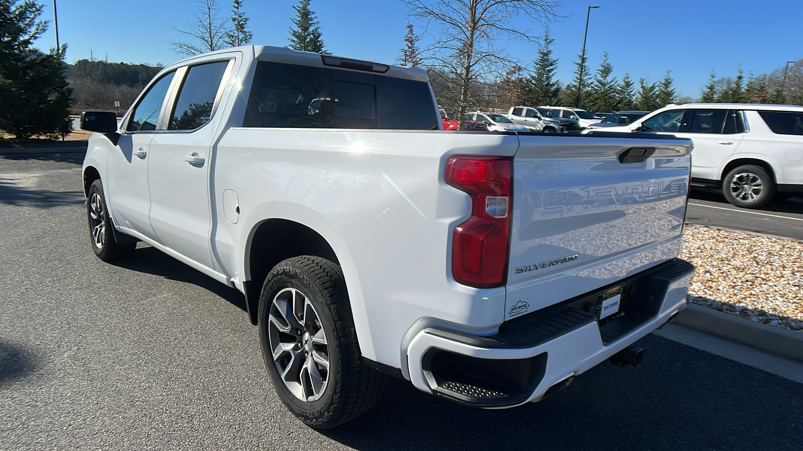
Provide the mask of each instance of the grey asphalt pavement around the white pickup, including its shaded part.
[{"label": "grey asphalt pavement around the white pickup, including its shaded part", "polygon": [[803,449],[803,384],[650,335],[539,404],[390,380],[316,432],[272,392],[237,292],[142,247],[88,248],[79,154],[0,158],[0,449]]}]

